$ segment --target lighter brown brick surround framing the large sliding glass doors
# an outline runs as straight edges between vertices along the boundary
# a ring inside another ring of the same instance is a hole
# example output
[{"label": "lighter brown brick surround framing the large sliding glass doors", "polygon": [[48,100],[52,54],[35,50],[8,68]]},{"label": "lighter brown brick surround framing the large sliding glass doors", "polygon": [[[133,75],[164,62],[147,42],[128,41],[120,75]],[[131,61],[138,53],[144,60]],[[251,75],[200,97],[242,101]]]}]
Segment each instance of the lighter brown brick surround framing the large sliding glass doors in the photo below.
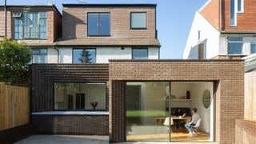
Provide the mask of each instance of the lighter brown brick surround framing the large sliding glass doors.
[{"label": "lighter brown brick surround framing the large sliding glass doors", "polygon": [[234,143],[235,119],[244,115],[243,65],[240,60],[110,61],[110,141],[122,142],[125,139],[125,133],[117,131],[125,130],[125,107],[123,103],[118,105],[122,99],[118,97],[122,97],[124,92],[116,92],[118,82],[118,87],[122,87],[122,82],[127,80],[175,80],[215,82],[215,141]]}]

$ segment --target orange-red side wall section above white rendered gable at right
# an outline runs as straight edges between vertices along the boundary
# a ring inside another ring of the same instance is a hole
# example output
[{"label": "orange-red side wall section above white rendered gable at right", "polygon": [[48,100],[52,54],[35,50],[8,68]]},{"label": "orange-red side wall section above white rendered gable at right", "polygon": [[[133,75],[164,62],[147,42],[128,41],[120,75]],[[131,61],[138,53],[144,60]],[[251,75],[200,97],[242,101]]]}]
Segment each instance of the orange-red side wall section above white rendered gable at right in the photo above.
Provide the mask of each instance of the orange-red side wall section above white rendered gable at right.
[{"label": "orange-red side wall section above white rendered gable at right", "polygon": [[202,16],[206,18],[211,23],[211,25],[214,26],[217,30],[219,30],[220,28],[219,4],[219,0],[212,0],[200,11],[200,14],[202,14]]}]

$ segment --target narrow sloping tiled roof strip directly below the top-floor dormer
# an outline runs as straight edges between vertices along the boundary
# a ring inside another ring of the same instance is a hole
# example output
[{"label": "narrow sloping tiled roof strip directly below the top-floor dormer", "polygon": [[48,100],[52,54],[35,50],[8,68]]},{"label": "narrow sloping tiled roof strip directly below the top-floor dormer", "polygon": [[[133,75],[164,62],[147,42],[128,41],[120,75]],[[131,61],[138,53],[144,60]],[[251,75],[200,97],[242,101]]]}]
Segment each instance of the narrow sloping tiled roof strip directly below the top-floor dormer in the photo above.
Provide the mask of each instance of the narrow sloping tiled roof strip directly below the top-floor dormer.
[{"label": "narrow sloping tiled roof strip directly below the top-floor dormer", "polygon": [[152,46],[160,47],[158,39],[70,39],[55,42],[57,46]]}]

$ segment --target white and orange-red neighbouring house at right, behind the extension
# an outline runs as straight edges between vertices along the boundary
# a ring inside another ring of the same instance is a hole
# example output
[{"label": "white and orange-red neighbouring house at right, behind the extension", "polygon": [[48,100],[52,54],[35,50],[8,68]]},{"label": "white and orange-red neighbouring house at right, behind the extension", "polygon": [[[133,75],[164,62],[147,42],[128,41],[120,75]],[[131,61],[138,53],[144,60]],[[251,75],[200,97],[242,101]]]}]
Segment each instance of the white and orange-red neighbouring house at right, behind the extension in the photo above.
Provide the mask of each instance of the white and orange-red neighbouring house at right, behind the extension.
[{"label": "white and orange-red neighbouring house at right, behind the extension", "polygon": [[194,15],[182,58],[242,58],[256,50],[256,2],[209,0]]}]

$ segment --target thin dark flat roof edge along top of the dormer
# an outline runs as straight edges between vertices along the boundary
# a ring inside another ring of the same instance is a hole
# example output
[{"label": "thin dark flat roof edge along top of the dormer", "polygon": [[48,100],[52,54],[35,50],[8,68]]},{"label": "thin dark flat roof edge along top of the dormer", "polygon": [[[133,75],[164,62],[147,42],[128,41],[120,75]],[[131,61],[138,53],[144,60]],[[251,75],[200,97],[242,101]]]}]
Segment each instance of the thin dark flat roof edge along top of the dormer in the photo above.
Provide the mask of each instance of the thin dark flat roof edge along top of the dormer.
[{"label": "thin dark flat roof edge along top of the dormer", "polygon": [[118,7],[118,6],[154,6],[156,7],[157,4],[146,4],[146,3],[143,3],[143,4],[89,4],[89,3],[86,3],[86,4],[74,4],[74,3],[67,3],[67,4],[62,4],[62,6],[74,6],[74,7],[83,7],[83,6],[95,6],[95,7],[98,7],[98,6],[103,6],[103,7],[110,7],[110,6],[115,6],[115,7]]}]

